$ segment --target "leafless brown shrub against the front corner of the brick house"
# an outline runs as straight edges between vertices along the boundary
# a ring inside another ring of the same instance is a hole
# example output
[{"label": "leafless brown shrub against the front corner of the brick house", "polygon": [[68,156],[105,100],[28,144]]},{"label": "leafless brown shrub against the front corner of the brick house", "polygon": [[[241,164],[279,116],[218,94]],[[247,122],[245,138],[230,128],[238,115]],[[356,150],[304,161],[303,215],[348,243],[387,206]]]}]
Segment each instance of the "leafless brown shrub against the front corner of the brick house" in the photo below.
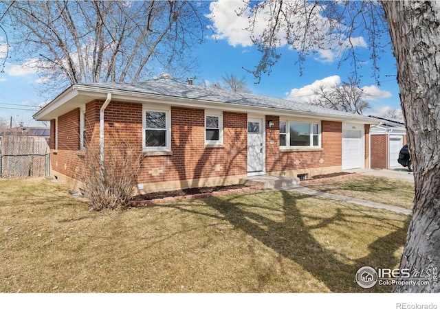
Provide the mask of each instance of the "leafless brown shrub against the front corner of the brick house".
[{"label": "leafless brown shrub against the front corner of the brick house", "polygon": [[142,155],[126,142],[106,145],[103,157],[99,146],[85,150],[85,194],[91,209],[120,209],[129,205],[140,170]]}]

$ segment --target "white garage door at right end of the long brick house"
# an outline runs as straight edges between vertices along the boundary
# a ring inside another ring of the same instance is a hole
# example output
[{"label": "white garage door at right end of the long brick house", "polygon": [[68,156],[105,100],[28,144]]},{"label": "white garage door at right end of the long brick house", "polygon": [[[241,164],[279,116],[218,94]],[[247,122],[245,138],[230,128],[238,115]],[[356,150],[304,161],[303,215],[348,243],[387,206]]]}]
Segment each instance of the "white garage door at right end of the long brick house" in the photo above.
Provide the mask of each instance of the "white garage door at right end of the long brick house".
[{"label": "white garage door at right end of the long brick house", "polygon": [[363,168],[360,130],[342,131],[342,170]]}]

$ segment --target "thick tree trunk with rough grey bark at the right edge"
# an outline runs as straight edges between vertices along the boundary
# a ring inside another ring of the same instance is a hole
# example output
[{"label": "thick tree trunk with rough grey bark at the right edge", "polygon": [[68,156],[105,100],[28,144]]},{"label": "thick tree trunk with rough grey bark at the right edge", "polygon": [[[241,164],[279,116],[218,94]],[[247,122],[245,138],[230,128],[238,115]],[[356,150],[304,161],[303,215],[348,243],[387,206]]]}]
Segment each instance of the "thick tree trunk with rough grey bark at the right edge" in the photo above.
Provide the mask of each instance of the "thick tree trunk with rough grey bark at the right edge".
[{"label": "thick tree trunk with rough grey bark at the right edge", "polygon": [[[383,1],[414,165],[415,200],[400,268],[423,277],[440,267],[440,3]],[[431,275],[432,277],[432,275]],[[440,292],[429,285],[395,292]]]}]

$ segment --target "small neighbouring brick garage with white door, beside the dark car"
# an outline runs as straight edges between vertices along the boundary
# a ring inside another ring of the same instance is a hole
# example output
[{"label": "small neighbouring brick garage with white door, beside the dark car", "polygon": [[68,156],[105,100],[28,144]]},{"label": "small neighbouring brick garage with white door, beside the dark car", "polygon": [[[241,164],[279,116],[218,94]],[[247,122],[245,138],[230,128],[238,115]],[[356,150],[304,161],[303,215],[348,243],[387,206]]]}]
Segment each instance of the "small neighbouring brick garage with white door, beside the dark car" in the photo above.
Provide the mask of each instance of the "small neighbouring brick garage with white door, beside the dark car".
[{"label": "small neighbouring brick garage with white door, beside the dark car", "polygon": [[406,144],[404,120],[370,116],[380,121],[380,125],[371,126],[371,168],[401,167],[397,158]]}]

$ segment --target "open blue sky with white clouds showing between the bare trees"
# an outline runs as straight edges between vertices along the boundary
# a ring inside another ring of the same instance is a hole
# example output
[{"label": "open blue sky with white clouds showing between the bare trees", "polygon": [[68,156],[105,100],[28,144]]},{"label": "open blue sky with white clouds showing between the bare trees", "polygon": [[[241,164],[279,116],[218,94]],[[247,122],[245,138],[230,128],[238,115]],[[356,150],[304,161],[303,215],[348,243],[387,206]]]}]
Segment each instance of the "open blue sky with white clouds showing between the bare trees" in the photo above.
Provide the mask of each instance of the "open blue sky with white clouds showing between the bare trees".
[{"label": "open blue sky with white clouds showing between the bare trees", "polygon": [[[223,76],[232,73],[239,78],[245,78],[248,87],[257,95],[307,102],[316,87],[340,84],[348,80],[351,63],[342,62],[339,66],[340,57],[331,52],[309,56],[303,64],[303,75],[300,76],[299,67],[294,64],[297,59],[296,51],[282,46],[279,48],[281,59],[273,67],[270,76],[263,76],[261,82],[256,84],[254,76],[243,67],[253,69],[258,64],[261,54],[250,42],[249,34],[243,31],[247,20],[236,17],[234,13],[239,4],[236,1],[221,0],[210,6],[209,16],[217,39],[207,36],[205,43],[195,47],[194,56],[199,58],[200,64],[194,73],[196,84],[221,81]],[[8,36],[12,37],[12,34],[9,33]],[[4,42],[4,34],[0,32],[0,44]],[[47,94],[39,89],[43,81],[32,67],[26,65],[28,59],[15,58],[13,42],[11,45],[12,59],[6,62],[5,72],[0,73],[0,117],[8,121],[12,117],[13,126],[20,123],[24,126],[40,126],[40,122],[32,120],[32,115],[37,110],[35,106],[48,102]],[[2,44],[0,58],[4,51],[5,47]],[[372,106],[365,114],[383,115],[390,109],[400,108],[395,58],[391,49],[381,56],[380,86],[371,78],[369,46],[362,37],[359,38],[356,51],[364,59],[360,70],[363,76],[360,85],[364,92],[369,94],[367,100]],[[32,55],[28,58],[32,58]],[[49,98],[57,94],[53,93]]]}]

